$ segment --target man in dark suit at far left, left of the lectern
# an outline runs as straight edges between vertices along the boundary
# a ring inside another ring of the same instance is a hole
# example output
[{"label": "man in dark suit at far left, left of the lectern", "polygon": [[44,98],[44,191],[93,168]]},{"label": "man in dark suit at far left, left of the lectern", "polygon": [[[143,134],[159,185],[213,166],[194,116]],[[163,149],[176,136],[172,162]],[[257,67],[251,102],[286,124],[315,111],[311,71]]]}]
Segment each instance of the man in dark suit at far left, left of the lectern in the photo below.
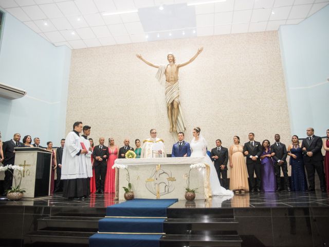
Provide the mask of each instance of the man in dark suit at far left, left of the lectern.
[{"label": "man in dark suit at far left, left of the lectern", "polygon": [[[20,142],[21,140],[21,134],[15,133],[14,137],[11,140],[7,140],[7,142],[4,142],[3,144],[3,151],[4,151],[4,166],[7,165],[14,165],[15,164],[15,153],[14,148],[22,148],[25,145]],[[8,190],[12,186],[12,169],[8,169],[5,171],[5,179],[4,179],[4,191]],[[6,195],[6,192],[3,194],[3,196]]]}]

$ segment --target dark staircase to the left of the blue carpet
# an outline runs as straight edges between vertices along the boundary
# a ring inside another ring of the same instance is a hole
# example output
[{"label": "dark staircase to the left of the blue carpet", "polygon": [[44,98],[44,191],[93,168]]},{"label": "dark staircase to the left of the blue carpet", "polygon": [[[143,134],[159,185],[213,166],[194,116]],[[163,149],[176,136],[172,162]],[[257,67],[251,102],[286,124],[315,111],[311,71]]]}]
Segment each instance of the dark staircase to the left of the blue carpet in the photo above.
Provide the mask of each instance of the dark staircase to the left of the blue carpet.
[{"label": "dark staircase to the left of the blue carpet", "polygon": [[106,208],[86,209],[71,207],[38,219],[36,231],[24,235],[24,246],[89,246],[88,239],[97,233],[98,221],[104,217]]}]

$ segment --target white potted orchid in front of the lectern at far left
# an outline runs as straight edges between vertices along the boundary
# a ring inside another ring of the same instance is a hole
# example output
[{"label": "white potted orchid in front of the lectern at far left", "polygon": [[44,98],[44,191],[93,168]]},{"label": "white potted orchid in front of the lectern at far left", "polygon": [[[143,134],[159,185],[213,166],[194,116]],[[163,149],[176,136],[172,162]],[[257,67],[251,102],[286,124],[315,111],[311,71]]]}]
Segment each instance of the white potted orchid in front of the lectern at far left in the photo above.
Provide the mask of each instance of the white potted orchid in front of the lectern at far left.
[{"label": "white potted orchid in front of the lectern at far left", "polygon": [[[13,170],[19,171],[20,175],[20,182],[17,183],[17,179],[13,173]],[[23,167],[15,166],[15,165],[7,165],[0,167],[0,171],[9,171],[12,174],[14,185],[11,186],[11,189],[6,190],[7,198],[10,200],[20,200],[23,197],[23,193],[25,192],[24,189],[21,189],[21,182],[22,182],[22,170]]]}]

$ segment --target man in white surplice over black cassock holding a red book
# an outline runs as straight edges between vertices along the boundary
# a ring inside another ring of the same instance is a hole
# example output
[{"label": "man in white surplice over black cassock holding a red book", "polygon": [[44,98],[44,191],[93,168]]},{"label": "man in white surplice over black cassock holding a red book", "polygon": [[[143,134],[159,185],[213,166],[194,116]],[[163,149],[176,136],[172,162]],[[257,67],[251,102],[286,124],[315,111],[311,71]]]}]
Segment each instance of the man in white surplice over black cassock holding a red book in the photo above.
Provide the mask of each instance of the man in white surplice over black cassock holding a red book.
[{"label": "man in white surplice over black cassock holding a red book", "polygon": [[[81,146],[80,134],[82,122],[75,122],[73,131],[68,133],[65,140],[62,158],[63,197],[69,199],[81,199],[88,195],[85,179],[86,169],[83,166],[82,157],[88,150]],[[83,157],[84,158],[84,157]]]}]

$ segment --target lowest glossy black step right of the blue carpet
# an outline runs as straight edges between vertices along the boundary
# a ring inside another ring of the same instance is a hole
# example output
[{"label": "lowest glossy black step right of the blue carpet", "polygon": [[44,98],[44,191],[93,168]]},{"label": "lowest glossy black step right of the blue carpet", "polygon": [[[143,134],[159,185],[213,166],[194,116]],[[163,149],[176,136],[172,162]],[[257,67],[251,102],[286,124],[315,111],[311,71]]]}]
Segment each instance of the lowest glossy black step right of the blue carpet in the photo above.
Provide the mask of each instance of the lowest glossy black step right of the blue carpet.
[{"label": "lowest glossy black step right of the blue carpet", "polygon": [[241,247],[239,235],[171,235],[160,238],[160,247],[221,246]]}]

